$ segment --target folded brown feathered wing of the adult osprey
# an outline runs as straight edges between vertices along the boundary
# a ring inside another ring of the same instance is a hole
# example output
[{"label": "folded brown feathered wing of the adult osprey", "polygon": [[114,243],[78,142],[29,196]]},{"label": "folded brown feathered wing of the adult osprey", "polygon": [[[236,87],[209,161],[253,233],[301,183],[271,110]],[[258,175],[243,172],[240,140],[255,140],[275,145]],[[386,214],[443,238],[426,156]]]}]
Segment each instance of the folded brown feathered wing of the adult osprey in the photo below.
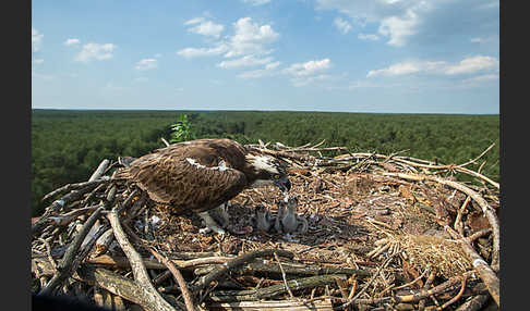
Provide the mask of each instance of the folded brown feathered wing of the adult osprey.
[{"label": "folded brown feathered wing of the adult osprey", "polygon": [[229,159],[215,157],[214,150],[179,149],[159,149],[131,163],[131,179],[153,200],[201,212],[230,200],[246,186],[245,175],[230,167]]}]

